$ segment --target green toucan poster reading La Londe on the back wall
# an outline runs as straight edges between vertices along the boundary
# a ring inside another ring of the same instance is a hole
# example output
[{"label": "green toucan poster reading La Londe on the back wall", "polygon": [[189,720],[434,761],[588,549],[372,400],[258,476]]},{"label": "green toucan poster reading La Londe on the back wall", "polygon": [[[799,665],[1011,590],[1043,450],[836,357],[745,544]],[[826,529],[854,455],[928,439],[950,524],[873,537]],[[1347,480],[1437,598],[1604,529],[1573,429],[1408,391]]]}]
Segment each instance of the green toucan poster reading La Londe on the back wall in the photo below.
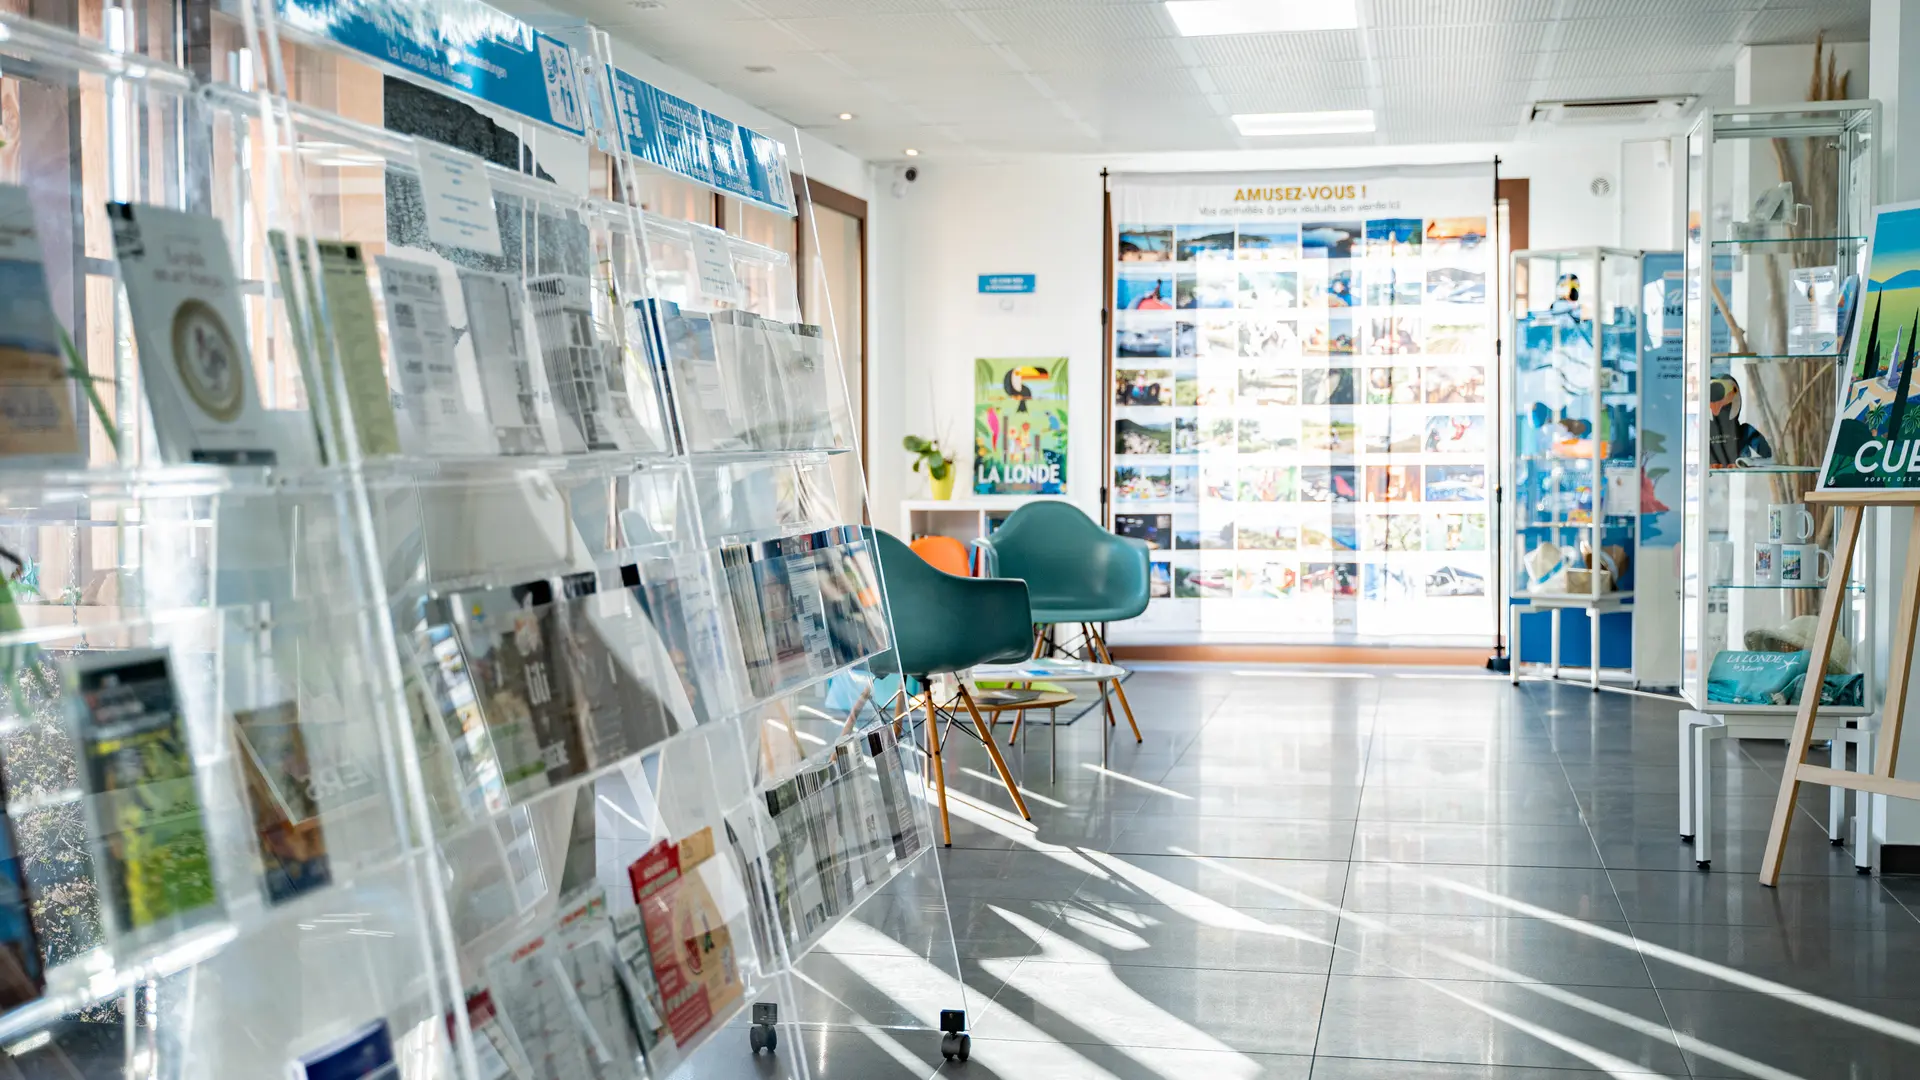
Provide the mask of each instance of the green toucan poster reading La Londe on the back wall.
[{"label": "green toucan poster reading La Londe on the back wall", "polygon": [[1068,361],[973,361],[973,494],[1064,496]]}]

